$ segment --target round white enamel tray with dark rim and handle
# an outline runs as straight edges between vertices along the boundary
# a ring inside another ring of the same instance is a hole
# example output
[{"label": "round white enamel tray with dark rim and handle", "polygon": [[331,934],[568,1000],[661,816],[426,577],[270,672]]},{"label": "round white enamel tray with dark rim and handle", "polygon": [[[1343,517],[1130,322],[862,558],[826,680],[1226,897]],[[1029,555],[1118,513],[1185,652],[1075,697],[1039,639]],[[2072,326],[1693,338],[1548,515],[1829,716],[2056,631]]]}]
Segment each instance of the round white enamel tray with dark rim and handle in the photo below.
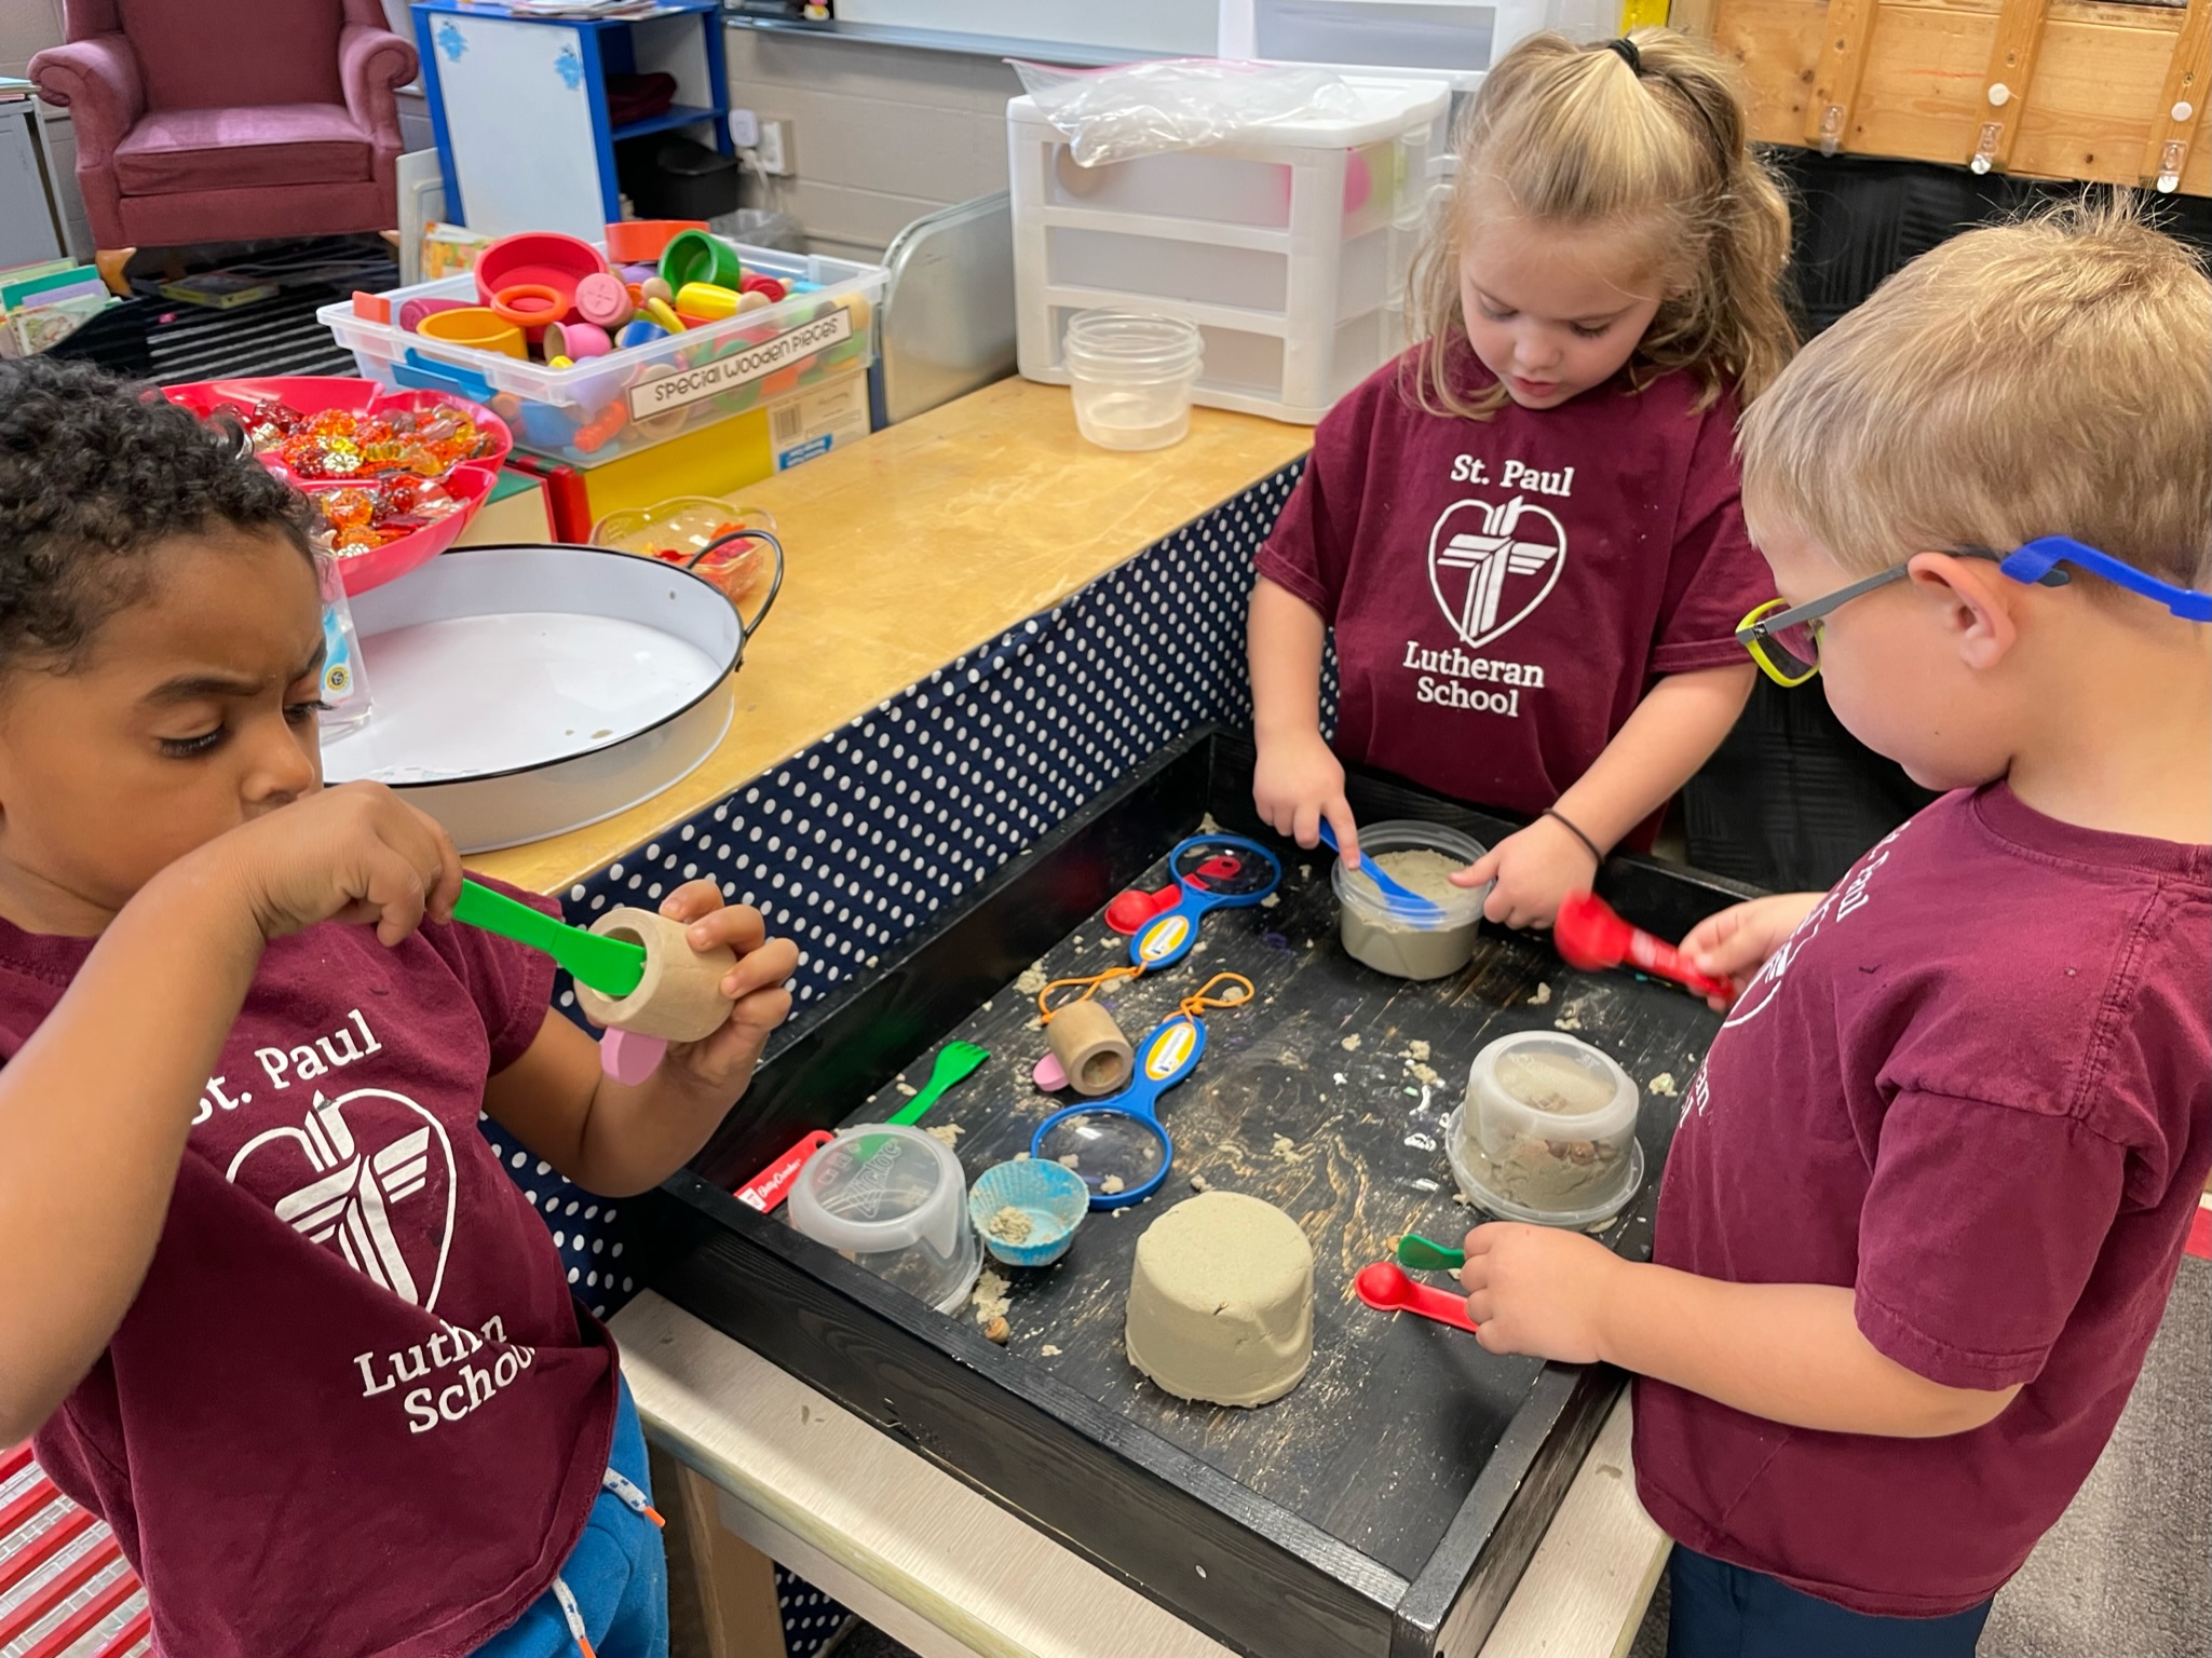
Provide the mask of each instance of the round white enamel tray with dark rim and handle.
[{"label": "round white enamel tray with dark rim and handle", "polygon": [[458,548],[354,599],[372,714],[323,743],[323,776],[400,789],[465,853],[599,822],[714,749],[772,601],[745,623],[657,559]]}]

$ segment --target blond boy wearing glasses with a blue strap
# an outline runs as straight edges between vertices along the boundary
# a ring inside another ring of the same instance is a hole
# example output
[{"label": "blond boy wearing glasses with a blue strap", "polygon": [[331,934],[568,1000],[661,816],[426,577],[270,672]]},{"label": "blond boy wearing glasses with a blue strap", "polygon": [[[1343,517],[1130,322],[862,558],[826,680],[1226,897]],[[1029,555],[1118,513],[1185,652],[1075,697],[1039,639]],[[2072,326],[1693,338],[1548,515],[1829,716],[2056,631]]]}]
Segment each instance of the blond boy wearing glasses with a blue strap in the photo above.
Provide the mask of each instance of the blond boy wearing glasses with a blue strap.
[{"label": "blond boy wearing glasses with a blue strap", "polygon": [[2086,1479],[2212,1169],[2212,283],[1978,230],[1743,422],[1739,634],[1942,800],[1688,940],[1741,997],[1655,1260],[1467,1238],[1493,1351],[1639,1375],[1674,1658],[1951,1658]]}]

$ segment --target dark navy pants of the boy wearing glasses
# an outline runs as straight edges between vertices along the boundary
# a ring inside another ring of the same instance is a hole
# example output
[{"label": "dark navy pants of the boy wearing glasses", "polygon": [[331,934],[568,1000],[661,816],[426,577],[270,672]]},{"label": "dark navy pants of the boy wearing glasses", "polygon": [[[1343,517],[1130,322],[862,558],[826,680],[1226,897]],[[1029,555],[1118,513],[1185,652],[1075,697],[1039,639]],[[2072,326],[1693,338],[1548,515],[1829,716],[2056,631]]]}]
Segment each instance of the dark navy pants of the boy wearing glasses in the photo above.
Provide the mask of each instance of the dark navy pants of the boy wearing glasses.
[{"label": "dark navy pants of the boy wearing glasses", "polygon": [[1668,1658],[1973,1658],[1989,1601],[1949,1618],[1874,1618],[1674,1545]]}]

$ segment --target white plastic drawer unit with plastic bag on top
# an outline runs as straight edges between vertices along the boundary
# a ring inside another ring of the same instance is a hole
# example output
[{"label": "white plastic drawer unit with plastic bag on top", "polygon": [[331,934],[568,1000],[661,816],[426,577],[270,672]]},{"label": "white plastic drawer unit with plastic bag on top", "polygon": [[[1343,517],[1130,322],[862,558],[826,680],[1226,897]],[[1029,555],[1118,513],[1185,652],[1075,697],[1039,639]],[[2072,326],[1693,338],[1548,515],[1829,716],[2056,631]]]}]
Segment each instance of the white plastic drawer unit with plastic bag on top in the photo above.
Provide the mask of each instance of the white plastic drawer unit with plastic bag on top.
[{"label": "white plastic drawer unit with plastic bag on top", "polygon": [[1405,276],[1451,86],[1347,80],[1352,117],[1097,168],[1075,164],[1033,99],[1013,99],[1022,374],[1066,385],[1075,312],[1172,312],[1206,338],[1197,402],[1312,424],[1405,349]]}]

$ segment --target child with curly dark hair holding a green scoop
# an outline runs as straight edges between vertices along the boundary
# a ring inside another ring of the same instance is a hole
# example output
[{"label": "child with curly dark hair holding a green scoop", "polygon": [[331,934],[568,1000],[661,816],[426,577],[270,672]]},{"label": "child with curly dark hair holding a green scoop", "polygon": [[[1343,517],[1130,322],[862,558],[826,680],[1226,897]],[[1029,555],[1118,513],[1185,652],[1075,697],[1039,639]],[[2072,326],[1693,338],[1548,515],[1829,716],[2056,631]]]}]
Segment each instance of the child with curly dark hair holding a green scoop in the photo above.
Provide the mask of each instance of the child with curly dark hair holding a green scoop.
[{"label": "child with curly dark hair holding a green scoop", "polygon": [[449,924],[438,825],[323,787],[303,511],[155,393],[0,365],[0,1444],[168,1654],[664,1654],[637,1413],[478,1114],[659,1183],[796,951],[679,889],[730,1021],[602,1077],[551,964]]}]

